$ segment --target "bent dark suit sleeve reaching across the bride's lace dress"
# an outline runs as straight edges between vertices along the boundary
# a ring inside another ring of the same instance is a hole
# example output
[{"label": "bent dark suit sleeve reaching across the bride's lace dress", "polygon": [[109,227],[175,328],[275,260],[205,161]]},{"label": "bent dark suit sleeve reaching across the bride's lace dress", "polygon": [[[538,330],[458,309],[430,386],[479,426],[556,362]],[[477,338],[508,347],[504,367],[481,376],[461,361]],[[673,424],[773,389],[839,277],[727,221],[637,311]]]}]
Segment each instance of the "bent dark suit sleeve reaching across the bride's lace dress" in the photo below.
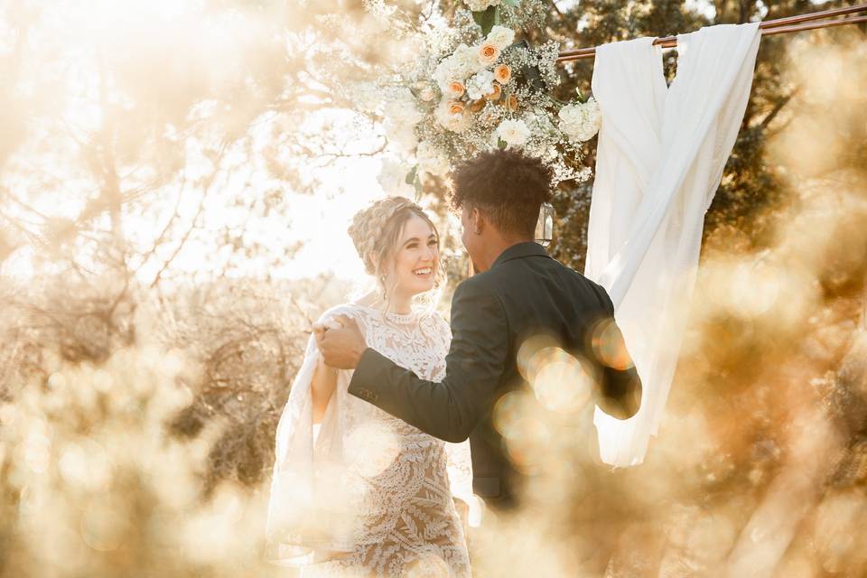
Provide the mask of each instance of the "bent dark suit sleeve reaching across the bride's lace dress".
[{"label": "bent dark suit sleeve reaching across the bride's lace dress", "polygon": [[508,359],[508,324],[496,294],[464,282],[452,298],[452,345],[442,382],[426,381],[368,348],[349,392],[446,442],[466,440]]}]

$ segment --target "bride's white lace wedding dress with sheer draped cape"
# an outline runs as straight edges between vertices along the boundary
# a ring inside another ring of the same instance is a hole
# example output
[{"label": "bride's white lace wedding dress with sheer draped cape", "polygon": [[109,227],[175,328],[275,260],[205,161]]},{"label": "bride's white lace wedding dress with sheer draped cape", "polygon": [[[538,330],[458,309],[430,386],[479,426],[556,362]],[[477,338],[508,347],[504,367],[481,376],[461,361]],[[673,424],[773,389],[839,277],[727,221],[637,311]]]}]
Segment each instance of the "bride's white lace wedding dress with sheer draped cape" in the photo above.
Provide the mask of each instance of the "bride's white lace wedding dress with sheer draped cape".
[{"label": "bride's white lace wedding dress with sheer draped cape", "polygon": [[[439,380],[451,341],[435,312],[406,315],[341,305],[368,346],[421,378]],[[338,382],[318,435],[310,383],[321,357],[311,339],[277,426],[268,508],[269,550],[302,576],[469,576],[453,497],[470,502],[469,443],[421,432],[347,392]]]}]

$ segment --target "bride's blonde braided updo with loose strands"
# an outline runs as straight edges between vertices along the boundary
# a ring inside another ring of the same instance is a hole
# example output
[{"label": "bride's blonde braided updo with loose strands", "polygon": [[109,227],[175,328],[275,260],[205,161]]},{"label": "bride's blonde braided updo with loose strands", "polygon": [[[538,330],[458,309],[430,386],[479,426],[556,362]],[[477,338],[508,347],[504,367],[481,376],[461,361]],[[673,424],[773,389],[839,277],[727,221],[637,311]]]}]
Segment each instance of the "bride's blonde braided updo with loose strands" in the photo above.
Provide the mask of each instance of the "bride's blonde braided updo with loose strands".
[{"label": "bride's blonde braided updo with loose strands", "polygon": [[352,243],[359,252],[365,271],[368,275],[375,276],[378,282],[383,284],[383,288],[389,257],[396,249],[406,221],[413,217],[424,219],[439,238],[439,233],[427,213],[415,202],[404,197],[377,200],[367,209],[359,210],[352,218],[348,229]]}]

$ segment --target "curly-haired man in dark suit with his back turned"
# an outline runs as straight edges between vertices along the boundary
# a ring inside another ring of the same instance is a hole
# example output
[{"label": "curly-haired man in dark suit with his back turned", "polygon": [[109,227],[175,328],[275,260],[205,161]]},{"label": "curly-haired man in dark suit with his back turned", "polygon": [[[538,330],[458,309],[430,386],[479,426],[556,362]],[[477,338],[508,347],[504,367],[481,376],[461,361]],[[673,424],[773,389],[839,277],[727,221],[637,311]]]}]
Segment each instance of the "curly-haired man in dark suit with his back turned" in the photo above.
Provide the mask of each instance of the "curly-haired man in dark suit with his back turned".
[{"label": "curly-haired man in dark suit with his back turned", "polygon": [[[545,165],[498,150],[464,163],[453,182],[452,204],[461,210],[463,244],[480,273],[454,292],[452,346],[443,381],[417,378],[369,349],[347,317],[340,319],[341,329],[320,333],[317,340],[326,364],[355,369],[349,387],[353,396],[446,442],[469,437],[473,491],[502,511],[517,504],[523,474],[509,461],[493,408],[507,393],[530,387],[517,360],[528,339],[545,336],[547,343],[582,359],[596,377],[592,400],[609,415],[626,419],[638,411],[641,382],[605,290],[534,242],[541,204],[552,195]],[[608,328],[603,349],[615,355],[600,354],[592,346],[601,326]],[[559,385],[582,387],[575,381]]]}]

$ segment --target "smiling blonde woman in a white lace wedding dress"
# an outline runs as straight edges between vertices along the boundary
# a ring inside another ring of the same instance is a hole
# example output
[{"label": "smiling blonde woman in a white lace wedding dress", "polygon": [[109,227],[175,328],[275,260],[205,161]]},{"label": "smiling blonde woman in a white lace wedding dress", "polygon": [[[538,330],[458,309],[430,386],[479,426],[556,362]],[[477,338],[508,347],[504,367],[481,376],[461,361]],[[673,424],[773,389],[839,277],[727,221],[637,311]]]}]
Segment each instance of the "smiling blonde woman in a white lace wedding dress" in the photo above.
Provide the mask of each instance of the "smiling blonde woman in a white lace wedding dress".
[{"label": "smiling blonde woman in a white lace wedding dress", "polygon": [[[449,325],[414,303],[444,276],[433,222],[392,197],[359,211],[349,233],[378,290],[325,312],[313,331],[350,316],[369,347],[420,378],[443,378]],[[325,366],[311,338],[277,425],[269,555],[302,565],[304,578],[469,576],[454,501],[472,500],[468,443],[444,443],[350,396],[351,375]]]}]

